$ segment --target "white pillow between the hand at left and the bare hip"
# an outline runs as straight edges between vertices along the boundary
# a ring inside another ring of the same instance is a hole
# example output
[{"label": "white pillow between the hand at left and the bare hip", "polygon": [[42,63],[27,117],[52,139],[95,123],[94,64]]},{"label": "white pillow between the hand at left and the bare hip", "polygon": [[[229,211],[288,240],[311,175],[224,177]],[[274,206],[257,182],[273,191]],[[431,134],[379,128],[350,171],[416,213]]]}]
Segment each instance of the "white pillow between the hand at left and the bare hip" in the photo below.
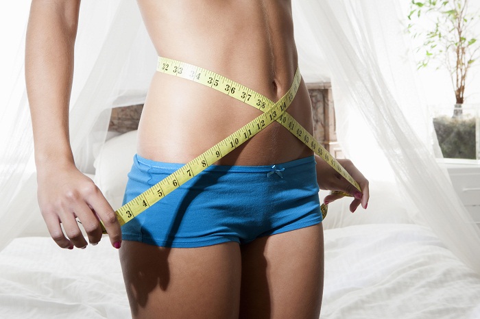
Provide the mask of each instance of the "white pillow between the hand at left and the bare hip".
[{"label": "white pillow between the hand at left and the bare hip", "polygon": [[115,136],[106,141],[95,159],[95,184],[113,209],[119,209],[136,153],[137,131]]}]

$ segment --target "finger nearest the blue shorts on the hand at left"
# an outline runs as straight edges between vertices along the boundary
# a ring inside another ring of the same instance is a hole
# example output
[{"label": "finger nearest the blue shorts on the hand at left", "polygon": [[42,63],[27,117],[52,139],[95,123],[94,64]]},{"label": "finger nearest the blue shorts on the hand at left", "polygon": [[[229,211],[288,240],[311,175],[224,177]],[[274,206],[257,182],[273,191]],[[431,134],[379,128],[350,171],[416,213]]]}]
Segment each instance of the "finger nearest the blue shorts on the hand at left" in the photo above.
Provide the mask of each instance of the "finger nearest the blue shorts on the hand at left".
[{"label": "finger nearest the blue shorts on the hand at left", "polygon": [[105,199],[104,195],[101,194],[100,190],[95,187],[95,190],[90,193],[90,196],[87,199],[88,205],[95,209],[95,212],[99,216],[100,220],[104,222],[105,229],[110,237],[110,242],[115,248],[120,248],[121,246],[121,227],[120,223],[117,220],[117,215],[113,210],[112,206]]}]

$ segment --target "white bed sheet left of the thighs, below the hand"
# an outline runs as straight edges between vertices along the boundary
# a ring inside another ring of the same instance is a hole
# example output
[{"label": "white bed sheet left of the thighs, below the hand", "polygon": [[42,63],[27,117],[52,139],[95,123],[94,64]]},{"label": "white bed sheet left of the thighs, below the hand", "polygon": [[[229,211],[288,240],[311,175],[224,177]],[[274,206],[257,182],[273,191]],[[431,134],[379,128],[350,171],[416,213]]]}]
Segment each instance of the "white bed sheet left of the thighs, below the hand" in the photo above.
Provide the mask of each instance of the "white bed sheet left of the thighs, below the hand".
[{"label": "white bed sheet left of the thighs, below the hand", "polygon": [[0,253],[0,318],[131,318],[117,249],[16,238]]}]

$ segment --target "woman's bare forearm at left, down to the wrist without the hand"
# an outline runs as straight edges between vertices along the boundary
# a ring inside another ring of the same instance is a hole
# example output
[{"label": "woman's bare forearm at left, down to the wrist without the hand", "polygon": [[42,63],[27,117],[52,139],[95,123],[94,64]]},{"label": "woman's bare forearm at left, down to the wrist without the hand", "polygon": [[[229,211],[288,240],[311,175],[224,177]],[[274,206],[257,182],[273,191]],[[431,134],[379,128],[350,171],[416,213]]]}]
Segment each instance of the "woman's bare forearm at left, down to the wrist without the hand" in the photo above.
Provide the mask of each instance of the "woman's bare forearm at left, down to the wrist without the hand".
[{"label": "woman's bare forearm at left, down to the wrist without the hand", "polygon": [[73,163],[69,100],[80,1],[32,1],[25,42],[25,81],[37,168]]}]

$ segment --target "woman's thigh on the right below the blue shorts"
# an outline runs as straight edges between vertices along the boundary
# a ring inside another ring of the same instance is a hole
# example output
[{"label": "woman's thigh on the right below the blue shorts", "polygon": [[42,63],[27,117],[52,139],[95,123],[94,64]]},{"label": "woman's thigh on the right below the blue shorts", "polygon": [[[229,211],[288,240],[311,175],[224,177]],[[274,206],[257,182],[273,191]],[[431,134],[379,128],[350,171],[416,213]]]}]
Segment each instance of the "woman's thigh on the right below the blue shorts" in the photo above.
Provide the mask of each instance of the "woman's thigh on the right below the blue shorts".
[{"label": "woman's thigh on the right below the blue shorts", "polygon": [[322,304],[322,224],[241,246],[240,318],[318,318]]}]

